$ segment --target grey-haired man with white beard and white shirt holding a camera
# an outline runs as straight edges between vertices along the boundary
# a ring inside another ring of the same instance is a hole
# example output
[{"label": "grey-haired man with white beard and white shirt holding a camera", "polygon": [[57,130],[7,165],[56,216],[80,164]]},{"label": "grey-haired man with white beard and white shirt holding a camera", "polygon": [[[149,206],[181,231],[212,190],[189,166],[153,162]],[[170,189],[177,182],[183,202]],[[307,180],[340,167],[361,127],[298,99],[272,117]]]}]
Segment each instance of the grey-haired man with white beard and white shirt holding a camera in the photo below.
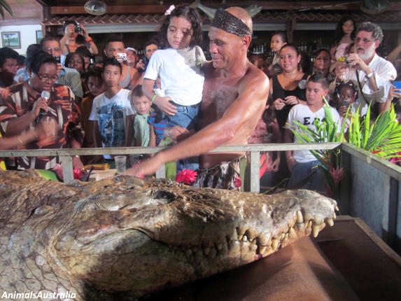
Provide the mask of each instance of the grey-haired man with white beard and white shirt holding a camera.
[{"label": "grey-haired man with white beard and white shirt holding a camera", "polygon": [[356,52],[351,53],[346,62],[337,63],[335,69],[336,84],[344,80],[354,80],[357,83],[357,103],[361,115],[365,115],[370,103],[378,103],[379,113],[386,110],[388,92],[397,76],[393,64],[376,53],[382,40],[383,31],[379,25],[363,22],[356,31]]}]

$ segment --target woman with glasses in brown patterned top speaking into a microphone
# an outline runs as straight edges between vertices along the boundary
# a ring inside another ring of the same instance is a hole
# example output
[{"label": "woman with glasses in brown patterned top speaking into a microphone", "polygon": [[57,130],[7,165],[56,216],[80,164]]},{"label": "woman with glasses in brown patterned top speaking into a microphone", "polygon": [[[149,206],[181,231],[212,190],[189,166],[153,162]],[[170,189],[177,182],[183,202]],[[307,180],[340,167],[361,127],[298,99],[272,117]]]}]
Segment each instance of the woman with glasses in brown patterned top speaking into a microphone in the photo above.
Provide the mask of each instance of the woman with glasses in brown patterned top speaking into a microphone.
[{"label": "woman with glasses in brown patterned top speaking into a microphone", "polygon": [[[47,52],[37,52],[29,65],[28,80],[1,90],[0,130],[3,137],[20,135],[40,124],[43,134],[36,141],[23,142],[19,148],[80,148],[83,132],[80,110],[73,92],[66,85],[55,83],[57,62]],[[22,169],[51,169],[58,157],[17,158]],[[80,158],[73,157],[73,166],[82,169]]]}]

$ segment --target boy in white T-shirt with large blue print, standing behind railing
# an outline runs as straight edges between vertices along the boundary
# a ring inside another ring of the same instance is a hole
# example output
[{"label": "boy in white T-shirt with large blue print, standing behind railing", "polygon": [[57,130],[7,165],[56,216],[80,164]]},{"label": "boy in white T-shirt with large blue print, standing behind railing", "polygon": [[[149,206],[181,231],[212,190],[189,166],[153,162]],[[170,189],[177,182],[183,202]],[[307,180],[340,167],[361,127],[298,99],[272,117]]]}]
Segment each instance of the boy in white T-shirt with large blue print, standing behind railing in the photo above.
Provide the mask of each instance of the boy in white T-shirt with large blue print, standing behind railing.
[{"label": "boy in white T-shirt with large blue print, standing behind railing", "polygon": [[[92,120],[94,144],[96,147],[125,146],[126,126],[134,118],[131,106],[131,91],[118,83],[122,76],[122,66],[112,57],[104,61],[102,77],[106,90],[93,99],[89,120]],[[101,137],[101,141],[97,137]],[[111,155],[104,155],[111,160]]]}]

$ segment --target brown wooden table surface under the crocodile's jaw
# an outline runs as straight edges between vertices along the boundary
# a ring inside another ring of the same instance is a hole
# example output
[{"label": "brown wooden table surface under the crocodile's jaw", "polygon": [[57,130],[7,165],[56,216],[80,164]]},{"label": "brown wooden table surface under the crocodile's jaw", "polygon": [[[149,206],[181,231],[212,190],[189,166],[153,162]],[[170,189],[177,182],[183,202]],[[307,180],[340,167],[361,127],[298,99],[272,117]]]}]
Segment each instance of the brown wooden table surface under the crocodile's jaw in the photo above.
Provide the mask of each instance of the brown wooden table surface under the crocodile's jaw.
[{"label": "brown wooden table surface under the crocodile's jaw", "polygon": [[142,298],[148,301],[396,300],[401,259],[358,218],[339,216],[267,258]]}]

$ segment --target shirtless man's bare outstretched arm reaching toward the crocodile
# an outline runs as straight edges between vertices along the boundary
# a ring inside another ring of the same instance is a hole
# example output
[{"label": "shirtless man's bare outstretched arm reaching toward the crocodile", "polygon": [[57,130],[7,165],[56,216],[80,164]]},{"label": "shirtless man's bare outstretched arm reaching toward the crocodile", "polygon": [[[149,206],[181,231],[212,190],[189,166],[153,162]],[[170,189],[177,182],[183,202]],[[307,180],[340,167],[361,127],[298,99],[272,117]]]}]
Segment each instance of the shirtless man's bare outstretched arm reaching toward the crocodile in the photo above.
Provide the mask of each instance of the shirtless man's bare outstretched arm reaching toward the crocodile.
[{"label": "shirtless man's bare outstretched arm reaching toward the crocodile", "polygon": [[[265,109],[269,80],[262,71],[251,71],[239,85],[239,95],[225,111],[223,118],[204,127],[176,146],[157,153],[153,158],[127,170],[135,176],[153,174],[165,162],[189,158],[223,144],[246,141]],[[260,72],[260,73],[259,73]],[[252,76],[252,77],[251,77]]]}]

